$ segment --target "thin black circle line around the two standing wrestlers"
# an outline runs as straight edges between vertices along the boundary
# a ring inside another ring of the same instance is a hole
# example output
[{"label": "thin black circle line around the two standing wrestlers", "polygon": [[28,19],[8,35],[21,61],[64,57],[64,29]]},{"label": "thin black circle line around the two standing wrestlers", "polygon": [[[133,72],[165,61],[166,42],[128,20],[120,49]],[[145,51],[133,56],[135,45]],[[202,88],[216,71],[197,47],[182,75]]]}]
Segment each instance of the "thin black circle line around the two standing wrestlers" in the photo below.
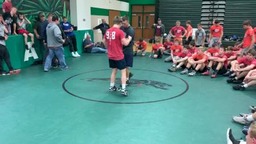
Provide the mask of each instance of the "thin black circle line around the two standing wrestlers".
[{"label": "thin black circle line around the two standing wrestlers", "polygon": [[[110,69],[104,69],[104,70],[110,70]],[[90,71],[90,72],[99,72],[99,71],[104,71],[104,70],[93,70],[93,71]],[[133,69],[132,70],[141,70],[141,69]],[[143,70],[143,71],[148,71],[148,72],[157,72],[157,71],[154,71],[154,70]],[[69,77],[68,79],[66,79],[63,83],[62,83],[62,88],[63,90],[65,90],[65,92],[67,92],[68,94],[72,95],[73,97],[77,97],[79,99],[84,99],[84,100],[90,100],[90,101],[93,101],[93,102],[103,102],[103,103],[109,103],[109,104],[145,104],[145,103],[152,103],[152,102],[161,102],[161,101],[164,101],[164,100],[170,100],[170,99],[175,99],[177,97],[180,97],[181,95],[184,95],[184,93],[188,92],[189,90],[189,85],[188,83],[180,78],[180,77],[177,77],[177,76],[174,76],[172,74],[167,74],[167,73],[164,73],[164,72],[158,72],[158,73],[161,73],[161,74],[166,74],[166,75],[169,75],[169,76],[173,76],[173,77],[176,77],[178,79],[180,79],[181,81],[183,81],[185,84],[186,84],[186,90],[184,90],[184,92],[178,94],[178,95],[175,95],[175,96],[172,96],[172,97],[169,97],[167,99],[160,99],[160,100],[152,100],[152,101],[145,101],[145,102],[109,102],[109,101],[102,101],[102,100],[93,100],[93,99],[88,99],[88,98],[85,98],[85,97],[81,97],[79,95],[76,95],[72,92],[69,92],[67,90],[67,88],[65,87],[65,84],[67,83],[68,80],[72,79],[73,77],[76,77],[76,76],[79,76],[81,74],[86,74],[86,73],[90,73],[90,72],[82,72],[80,74],[76,74],[72,77]],[[129,97],[129,96],[128,96]],[[125,97],[124,97],[125,98]]]}]

